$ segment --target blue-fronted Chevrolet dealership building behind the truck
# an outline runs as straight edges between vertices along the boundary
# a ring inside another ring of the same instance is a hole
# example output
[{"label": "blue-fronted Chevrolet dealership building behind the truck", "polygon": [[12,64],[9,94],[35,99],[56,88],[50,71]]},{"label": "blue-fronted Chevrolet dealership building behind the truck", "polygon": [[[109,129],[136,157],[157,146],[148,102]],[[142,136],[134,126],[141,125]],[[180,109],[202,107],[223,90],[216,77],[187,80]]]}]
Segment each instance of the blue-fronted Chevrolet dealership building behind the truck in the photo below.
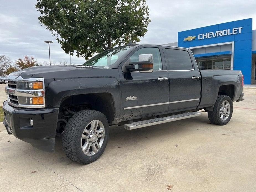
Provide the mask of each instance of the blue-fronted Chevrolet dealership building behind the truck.
[{"label": "blue-fronted Chevrolet dealership building behind the truck", "polygon": [[252,18],[178,32],[178,42],[190,48],[200,70],[241,70],[244,84],[256,84],[256,30]]}]

